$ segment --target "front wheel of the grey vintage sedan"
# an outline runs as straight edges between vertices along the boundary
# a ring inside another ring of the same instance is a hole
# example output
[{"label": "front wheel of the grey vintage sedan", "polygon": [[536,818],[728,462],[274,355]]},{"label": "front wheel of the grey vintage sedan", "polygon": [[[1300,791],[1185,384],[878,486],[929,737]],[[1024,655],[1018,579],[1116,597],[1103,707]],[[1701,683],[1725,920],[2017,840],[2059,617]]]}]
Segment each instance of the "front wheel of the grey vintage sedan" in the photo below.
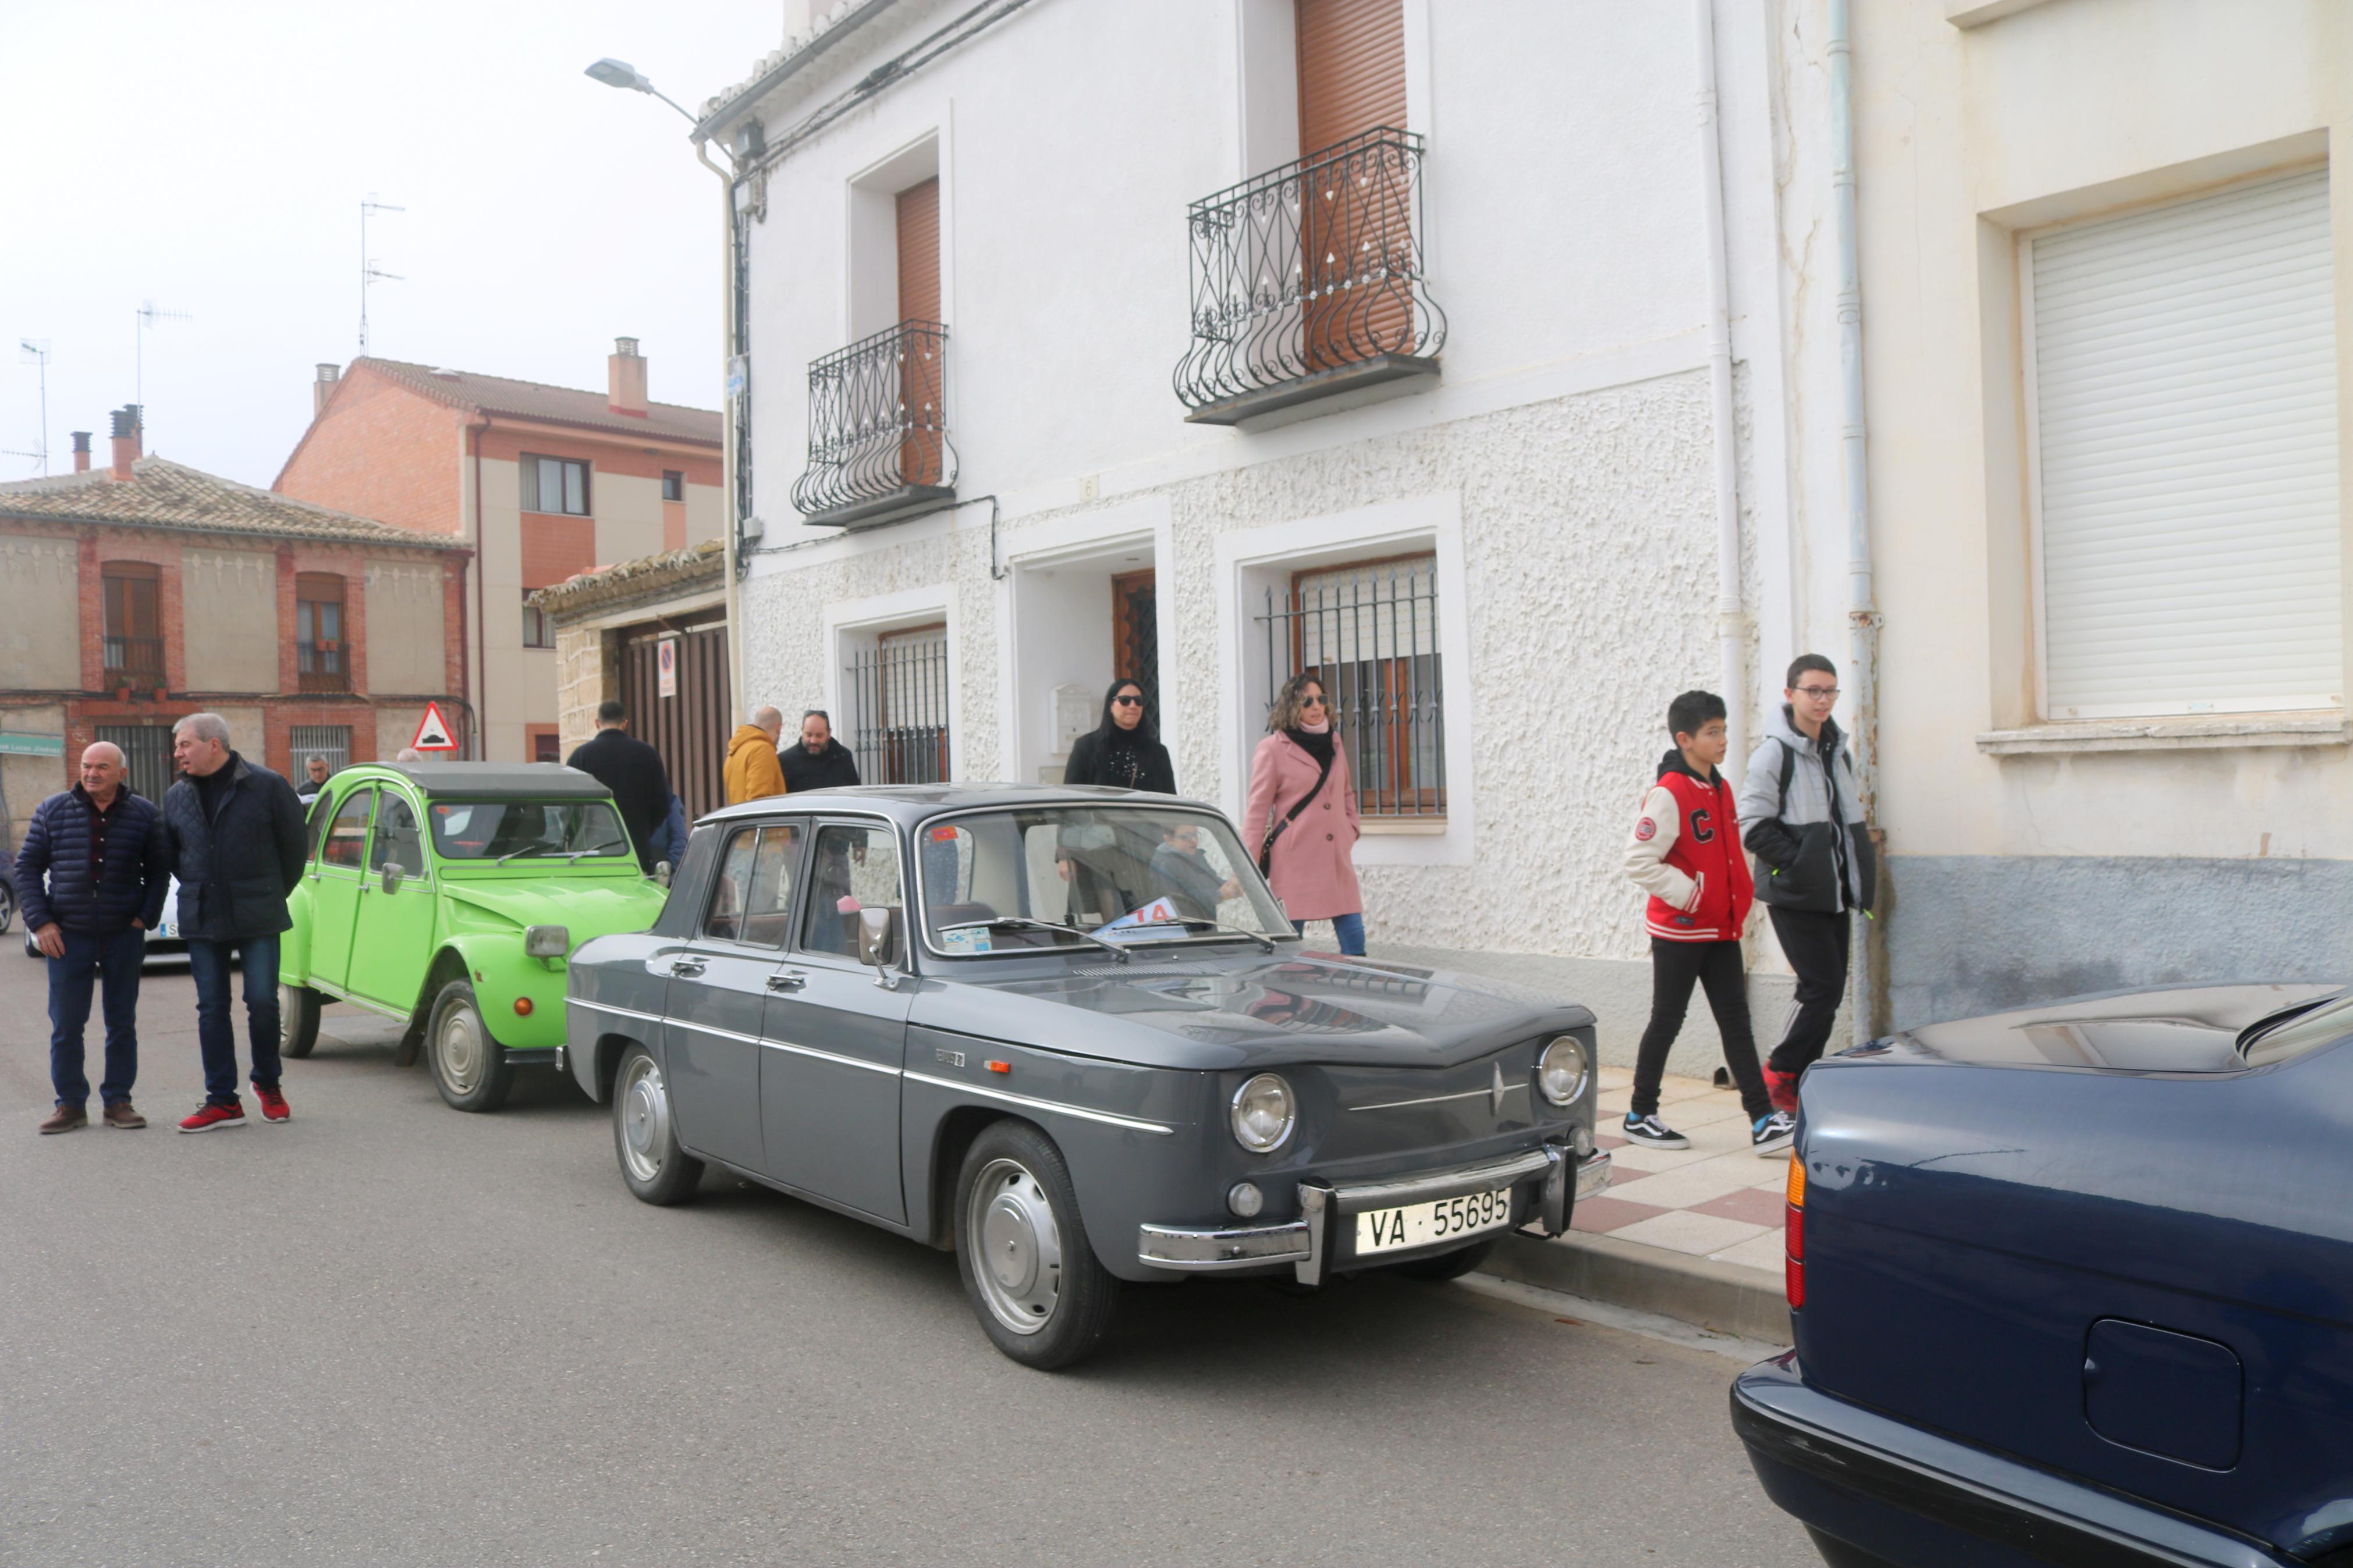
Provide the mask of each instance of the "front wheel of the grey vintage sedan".
[{"label": "front wheel of the grey vintage sedan", "polygon": [[1026,1121],[995,1121],[965,1152],[955,1272],[988,1340],[1038,1371],[1094,1354],[1120,1305],[1120,1281],[1087,1244],[1071,1166]]}]

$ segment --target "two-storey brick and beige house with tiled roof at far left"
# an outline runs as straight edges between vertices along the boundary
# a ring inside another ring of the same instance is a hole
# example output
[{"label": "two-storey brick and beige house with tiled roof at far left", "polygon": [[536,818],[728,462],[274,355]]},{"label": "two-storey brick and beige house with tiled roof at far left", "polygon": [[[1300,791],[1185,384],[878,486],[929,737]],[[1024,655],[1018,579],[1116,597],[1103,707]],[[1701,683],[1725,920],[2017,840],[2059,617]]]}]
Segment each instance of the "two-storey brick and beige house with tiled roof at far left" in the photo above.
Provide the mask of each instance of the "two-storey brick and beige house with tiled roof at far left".
[{"label": "two-storey brick and beige house with tiled roof at far left", "polygon": [[71,475],[0,484],[0,731],[59,743],[5,757],[9,844],[92,741],[160,795],[191,712],[278,771],[391,757],[428,701],[466,724],[464,541],[141,456],[136,407],[113,423],[111,465],[75,433]]}]

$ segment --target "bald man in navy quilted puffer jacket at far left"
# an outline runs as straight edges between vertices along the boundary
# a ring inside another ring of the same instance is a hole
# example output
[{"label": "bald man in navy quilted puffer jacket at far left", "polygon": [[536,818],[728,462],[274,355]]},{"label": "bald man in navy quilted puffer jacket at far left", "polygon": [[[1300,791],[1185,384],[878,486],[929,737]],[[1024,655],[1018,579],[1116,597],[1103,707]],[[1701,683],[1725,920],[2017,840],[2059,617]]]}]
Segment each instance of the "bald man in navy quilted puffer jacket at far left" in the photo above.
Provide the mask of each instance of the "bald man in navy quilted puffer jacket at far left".
[{"label": "bald man in navy quilted puffer jacket at far left", "polygon": [[139,1077],[139,964],[146,933],[162,919],[172,886],[162,813],[122,783],[122,750],[99,741],[82,750],[82,780],[33,811],[16,849],[24,926],[49,959],[49,1084],[56,1110],[45,1133],[89,1126],[89,1077],[82,1027],[89,983],[106,997],[106,1077],[99,1098],[106,1126],[141,1128],[132,1110]]}]

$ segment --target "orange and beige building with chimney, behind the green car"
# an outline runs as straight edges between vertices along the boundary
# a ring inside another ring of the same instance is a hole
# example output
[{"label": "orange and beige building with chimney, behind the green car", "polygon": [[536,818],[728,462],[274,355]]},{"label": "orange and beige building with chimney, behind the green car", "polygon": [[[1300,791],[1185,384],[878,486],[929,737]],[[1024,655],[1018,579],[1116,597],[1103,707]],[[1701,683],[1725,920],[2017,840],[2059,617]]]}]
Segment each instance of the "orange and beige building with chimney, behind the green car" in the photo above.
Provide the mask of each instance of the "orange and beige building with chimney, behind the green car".
[{"label": "orange and beige building with chimney, behind the green car", "polygon": [[720,416],[647,402],[619,339],[602,393],[353,360],[318,367],[313,418],[273,489],[475,548],[471,703],[501,762],[560,757],[558,654],[527,604],[598,562],[718,538]]}]

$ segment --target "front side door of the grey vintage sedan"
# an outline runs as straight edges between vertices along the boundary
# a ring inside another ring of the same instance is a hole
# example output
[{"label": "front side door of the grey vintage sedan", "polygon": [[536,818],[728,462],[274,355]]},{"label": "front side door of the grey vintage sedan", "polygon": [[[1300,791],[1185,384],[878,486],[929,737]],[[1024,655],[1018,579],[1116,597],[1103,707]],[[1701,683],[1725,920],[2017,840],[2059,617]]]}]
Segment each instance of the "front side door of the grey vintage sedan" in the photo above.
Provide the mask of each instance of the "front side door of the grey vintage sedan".
[{"label": "front side door of the grey vintage sedan", "polygon": [[769,1173],[835,1204],[906,1222],[899,1185],[899,1070],[913,990],[875,985],[856,957],[856,912],[899,910],[899,830],[826,823],[784,990],[767,1004],[760,1126]]}]

